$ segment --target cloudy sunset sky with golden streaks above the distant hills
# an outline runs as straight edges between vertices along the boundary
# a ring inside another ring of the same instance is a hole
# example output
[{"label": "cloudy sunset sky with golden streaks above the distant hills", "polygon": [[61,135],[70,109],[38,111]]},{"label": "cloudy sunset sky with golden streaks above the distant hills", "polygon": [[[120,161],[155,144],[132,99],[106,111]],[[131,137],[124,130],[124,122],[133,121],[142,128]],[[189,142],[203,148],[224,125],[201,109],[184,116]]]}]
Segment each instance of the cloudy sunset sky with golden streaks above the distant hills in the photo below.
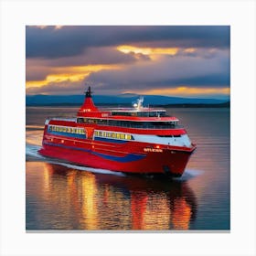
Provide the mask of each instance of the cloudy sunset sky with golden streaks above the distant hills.
[{"label": "cloudy sunset sky with golden streaks above the distant hills", "polygon": [[229,26],[27,26],[26,91],[228,99]]}]

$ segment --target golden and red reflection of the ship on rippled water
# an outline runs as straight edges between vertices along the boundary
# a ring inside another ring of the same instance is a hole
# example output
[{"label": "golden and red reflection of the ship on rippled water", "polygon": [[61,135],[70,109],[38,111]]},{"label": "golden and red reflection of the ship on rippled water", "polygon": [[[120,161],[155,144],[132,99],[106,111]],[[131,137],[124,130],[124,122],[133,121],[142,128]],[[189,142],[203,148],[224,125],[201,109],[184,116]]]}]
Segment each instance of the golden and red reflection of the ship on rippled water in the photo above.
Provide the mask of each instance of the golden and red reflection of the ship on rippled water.
[{"label": "golden and red reflection of the ship on rippled water", "polygon": [[31,204],[33,195],[34,204],[48,208],[40,213],[34,206],[40,220],[27,221],[27,229],[189,229],[196,218],[197,200],[187,182],[27,165],[27,200]]}]

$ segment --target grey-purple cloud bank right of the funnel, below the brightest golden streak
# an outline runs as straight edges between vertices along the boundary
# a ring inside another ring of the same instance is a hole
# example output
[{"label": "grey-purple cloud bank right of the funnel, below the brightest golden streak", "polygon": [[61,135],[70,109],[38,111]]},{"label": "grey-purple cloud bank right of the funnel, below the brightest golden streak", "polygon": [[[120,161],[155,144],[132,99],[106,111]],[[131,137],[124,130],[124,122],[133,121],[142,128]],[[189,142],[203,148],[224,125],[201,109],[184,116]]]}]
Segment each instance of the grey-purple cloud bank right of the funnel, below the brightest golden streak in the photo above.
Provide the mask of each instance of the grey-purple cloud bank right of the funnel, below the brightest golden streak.
[{"label": "grey-purple cloud bank right of the funnel, below the brightest golden streak", "polygon": [[[133,75],[131,75],[133,74]],[[216,52],[211,59],[179,56],[149,62],[146,65],[130,66],[123,70],[101,70],[89,77],[97,88],[126,90],[190,87],[229,87],[229,52]]]}]

